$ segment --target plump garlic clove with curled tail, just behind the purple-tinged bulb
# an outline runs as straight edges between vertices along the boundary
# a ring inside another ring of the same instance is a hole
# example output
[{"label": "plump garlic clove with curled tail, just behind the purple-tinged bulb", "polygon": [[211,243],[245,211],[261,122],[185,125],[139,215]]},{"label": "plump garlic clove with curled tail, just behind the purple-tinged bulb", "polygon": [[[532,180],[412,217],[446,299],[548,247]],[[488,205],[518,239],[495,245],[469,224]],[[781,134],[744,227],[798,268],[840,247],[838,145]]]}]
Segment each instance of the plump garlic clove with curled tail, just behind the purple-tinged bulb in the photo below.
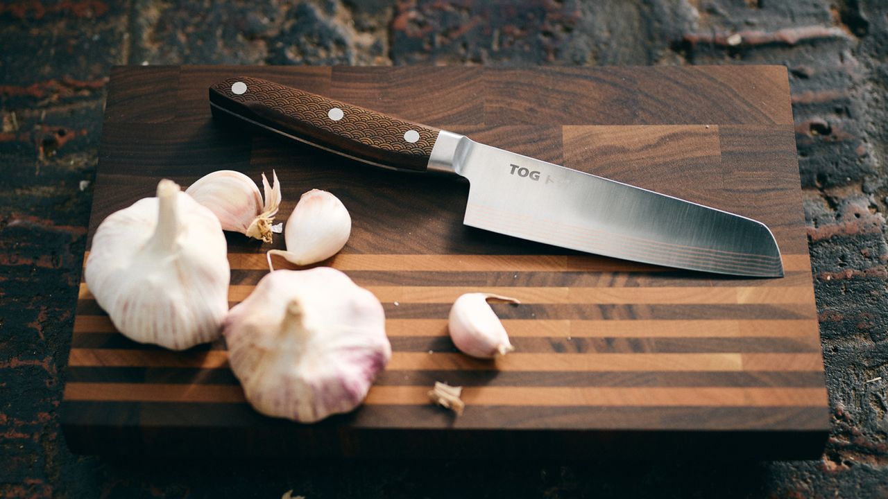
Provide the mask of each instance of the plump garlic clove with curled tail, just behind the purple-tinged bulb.
[{"label": "plump garlic clove with curled tail, just behind the purple-tinged bulb", "polygon": [[345,246],[351,234],[352,217],[339,198],[327,191],[312,189],[299,197],[287,219],[283,232],[287,250],[268,251],[268,268],[274,270],[273,255],[296,265],[326,260]]}]

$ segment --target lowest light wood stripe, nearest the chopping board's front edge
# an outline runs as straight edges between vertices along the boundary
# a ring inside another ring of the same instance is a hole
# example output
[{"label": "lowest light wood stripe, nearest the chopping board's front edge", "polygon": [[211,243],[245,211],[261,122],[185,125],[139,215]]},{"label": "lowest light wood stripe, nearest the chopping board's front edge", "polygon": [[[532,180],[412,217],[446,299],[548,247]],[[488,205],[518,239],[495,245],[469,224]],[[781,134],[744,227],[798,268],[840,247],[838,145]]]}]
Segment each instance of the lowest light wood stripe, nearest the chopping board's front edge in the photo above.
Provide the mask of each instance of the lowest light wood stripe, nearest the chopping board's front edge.
[{"label": "lowest light wood stripe, nearest the chopping board's front edge", "polygon": [[[373,386],[367,405],[430,404],[429,387]],[[825,388],[733,387],[465,387],[462,399],[472,406],[516,407],[821,407]],[[242,403],[237,385],[68,383],[65,400]]]}]

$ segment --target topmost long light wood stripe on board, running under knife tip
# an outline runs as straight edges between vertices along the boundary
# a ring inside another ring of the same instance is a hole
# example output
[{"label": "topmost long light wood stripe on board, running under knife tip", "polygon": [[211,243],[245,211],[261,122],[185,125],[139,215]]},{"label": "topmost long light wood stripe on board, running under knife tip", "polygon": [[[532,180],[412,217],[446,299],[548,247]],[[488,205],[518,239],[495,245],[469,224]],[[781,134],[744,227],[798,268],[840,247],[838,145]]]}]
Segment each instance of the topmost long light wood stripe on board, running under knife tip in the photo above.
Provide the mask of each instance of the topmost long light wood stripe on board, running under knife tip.
[{"label": "topmost long light wood stripe on board, running under knife tip", "polygon": [[[83,265],[90,252],[83,256]],[[811,271],[809,255],[783,255],[783,270]],[[267,270],[264,253],[228,253],[228,263],[238,270]],[[275,261],[275,268],[295,268]],[[668,267],[636,264],[594,255],[367,255],[340,253],[322,262],[342,271],[434,272],[662,272]]]}]

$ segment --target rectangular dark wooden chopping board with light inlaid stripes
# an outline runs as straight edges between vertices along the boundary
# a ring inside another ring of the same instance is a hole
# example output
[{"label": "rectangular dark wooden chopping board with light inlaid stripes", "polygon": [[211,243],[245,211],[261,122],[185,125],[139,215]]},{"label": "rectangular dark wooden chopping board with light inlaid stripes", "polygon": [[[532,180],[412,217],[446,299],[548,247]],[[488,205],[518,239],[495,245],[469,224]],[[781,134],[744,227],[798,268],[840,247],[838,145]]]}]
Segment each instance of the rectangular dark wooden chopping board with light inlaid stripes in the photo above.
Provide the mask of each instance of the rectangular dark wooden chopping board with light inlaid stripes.
[{"label": "rectangular dark wooden chopping board with light inlaid stripes", "polygon": [[[763,221],[781,279],[638,265],[463,226],[468,184],[380,170],[210,116],[208,88],[253,75]],[[62,422],[77,452],[474,457],[814,457],[829,429],[783,67],[118,67],[90,236],[161,178],[276,170],[353,218],[325,262],[383,302],[392,362],[365,404],[319,424],[260,416],[221,340],[187,352],[115,332],[81,284]],[[272,244],[228,234],[231,304]],[[472,360],[454,299],[490,291],[516,351]],[[464,386],[463,416],[432,406]]]}]

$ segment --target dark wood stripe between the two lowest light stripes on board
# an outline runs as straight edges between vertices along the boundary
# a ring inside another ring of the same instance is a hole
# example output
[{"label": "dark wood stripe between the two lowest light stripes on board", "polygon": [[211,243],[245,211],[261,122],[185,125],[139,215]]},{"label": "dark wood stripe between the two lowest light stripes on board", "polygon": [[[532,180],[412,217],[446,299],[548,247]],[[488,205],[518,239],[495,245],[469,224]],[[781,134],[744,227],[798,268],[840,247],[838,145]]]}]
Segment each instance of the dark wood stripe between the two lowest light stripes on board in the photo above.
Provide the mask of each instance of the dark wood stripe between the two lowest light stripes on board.
[{"label": "dark wood stripe between the two lowest light stripes on board", "polygon": [[[229,368],[90,368],[67,369],[75,383],[238,384]],[[823,373],[816,371],[713,372],[497,372],[497,371],[383,371],[380,386],[428,386],[436,381],[451,386],[784,386],[819,388]]]}]

